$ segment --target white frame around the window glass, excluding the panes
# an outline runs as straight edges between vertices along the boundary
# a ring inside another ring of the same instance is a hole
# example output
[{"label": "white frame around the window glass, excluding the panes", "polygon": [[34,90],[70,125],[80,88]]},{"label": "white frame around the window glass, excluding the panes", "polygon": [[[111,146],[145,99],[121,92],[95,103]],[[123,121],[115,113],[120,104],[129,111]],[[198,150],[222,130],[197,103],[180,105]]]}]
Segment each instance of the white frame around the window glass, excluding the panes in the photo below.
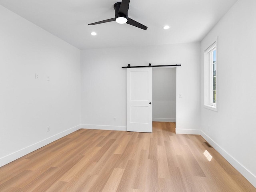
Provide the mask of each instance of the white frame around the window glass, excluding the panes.
[{"label": "white frame around the window glass, excluding the panes", "polygon": [[[207,49],[204,50],[204,107],[217,111],[217,39]],[[213,103],[213,51],[216,50],[216,63],[215,63],[215,91],[216,98]]]}]

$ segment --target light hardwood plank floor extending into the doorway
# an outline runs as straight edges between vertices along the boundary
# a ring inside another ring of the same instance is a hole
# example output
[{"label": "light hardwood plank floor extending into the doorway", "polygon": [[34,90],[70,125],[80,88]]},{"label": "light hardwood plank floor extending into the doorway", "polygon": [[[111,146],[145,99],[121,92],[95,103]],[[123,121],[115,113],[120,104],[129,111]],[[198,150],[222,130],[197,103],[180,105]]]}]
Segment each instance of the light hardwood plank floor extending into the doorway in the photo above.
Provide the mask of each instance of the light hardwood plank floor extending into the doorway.
[{"label": "light hardwood plank floor extending into the doorway", "polygon": [[80,129],[0,168],[1,192],[256,192],[199,135]]}]

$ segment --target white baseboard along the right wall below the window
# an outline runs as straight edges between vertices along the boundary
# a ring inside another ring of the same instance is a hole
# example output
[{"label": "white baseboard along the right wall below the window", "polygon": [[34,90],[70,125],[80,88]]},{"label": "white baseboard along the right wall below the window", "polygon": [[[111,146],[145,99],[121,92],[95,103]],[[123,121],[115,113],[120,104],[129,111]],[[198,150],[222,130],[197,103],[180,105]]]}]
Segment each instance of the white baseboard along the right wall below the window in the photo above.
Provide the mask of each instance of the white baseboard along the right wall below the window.
[{"label": "white baseboard along the right wall below the window", "polygon": [[256,187],[256,176],[246,169],[240,162],[226,152],[221,146],[215,143],[208,135],[201,131],[202,137],[218,151],[238,172],[240,172],[254,187]]}]

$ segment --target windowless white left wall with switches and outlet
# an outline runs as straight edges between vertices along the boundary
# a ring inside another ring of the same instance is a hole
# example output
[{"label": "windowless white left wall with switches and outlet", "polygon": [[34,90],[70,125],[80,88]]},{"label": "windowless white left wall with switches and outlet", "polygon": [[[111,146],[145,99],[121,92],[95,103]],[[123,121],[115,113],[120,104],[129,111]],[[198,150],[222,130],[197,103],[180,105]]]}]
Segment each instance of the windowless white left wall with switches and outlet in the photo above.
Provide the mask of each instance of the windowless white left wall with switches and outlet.
[{"label": "windowless white left wall with switches and outlet", "polygon": [[78,129],[81,96],[79,49],[2,6],[0,18],[2,166]]}]

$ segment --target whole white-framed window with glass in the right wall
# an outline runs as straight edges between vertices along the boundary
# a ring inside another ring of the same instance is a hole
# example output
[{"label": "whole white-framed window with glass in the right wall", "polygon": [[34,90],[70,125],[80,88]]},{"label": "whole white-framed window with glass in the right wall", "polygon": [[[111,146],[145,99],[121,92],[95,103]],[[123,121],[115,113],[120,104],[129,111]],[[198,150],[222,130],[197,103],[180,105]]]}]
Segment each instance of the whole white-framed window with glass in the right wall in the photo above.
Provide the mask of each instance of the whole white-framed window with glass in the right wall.
[{"label": "whole white-framed window with glass in the right wall", "polygon": [[204,107],[217,111],[217,41],[204,51]]}]

